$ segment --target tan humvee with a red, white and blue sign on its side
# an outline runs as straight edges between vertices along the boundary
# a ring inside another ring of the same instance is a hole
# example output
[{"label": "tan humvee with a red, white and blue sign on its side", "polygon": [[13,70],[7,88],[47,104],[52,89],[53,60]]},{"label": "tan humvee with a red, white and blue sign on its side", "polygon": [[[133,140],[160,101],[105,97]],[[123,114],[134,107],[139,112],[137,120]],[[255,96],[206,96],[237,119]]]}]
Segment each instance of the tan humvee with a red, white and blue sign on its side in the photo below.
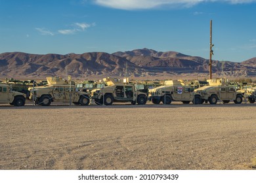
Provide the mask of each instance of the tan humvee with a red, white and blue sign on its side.
[{"label": "tan humvee with a red, white and blue sign on its side", "polygon": [[201,104],[200,94],[194,94],[194,88],[185,86],[180,80],[166,80],[164,86],[148,90],[148,99],[154,104],[169,105],[171,101],[182,101],[184,104]]}]

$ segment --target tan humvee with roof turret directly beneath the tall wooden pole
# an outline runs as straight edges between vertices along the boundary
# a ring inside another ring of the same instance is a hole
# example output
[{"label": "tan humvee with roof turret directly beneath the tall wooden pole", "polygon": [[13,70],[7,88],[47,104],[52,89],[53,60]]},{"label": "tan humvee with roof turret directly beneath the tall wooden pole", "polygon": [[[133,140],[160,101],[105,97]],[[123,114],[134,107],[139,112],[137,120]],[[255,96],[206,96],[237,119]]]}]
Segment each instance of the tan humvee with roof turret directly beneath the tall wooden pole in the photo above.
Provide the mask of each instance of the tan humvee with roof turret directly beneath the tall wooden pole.
[{"label": "tan humvee with roof turret directly beneath the tall wooden pole", "polygon": [[242,93],[236,90],[236,86],[229,85],[226,78],[207,80],[209,86],[203,86],[195,90],[201,95],[202,103],[216,104],[218,100],[229,103],[231,100],[236,104],[243,101]]}]

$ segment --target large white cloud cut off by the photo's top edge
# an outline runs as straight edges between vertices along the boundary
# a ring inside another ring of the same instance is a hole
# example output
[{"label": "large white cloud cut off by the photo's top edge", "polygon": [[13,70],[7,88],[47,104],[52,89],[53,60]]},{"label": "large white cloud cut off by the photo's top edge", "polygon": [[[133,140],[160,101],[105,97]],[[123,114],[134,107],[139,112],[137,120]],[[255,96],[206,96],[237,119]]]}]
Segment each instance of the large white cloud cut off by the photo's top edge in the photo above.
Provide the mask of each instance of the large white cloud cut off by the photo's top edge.
[{"label": "large white cloud cut off by the photo's top edge", "polygon": [[192,7],[203,2],[226,1],[231,4],[253,3],[256,0],[94,0],[97,5],[123,10],[150,9],[158,7]]}]

